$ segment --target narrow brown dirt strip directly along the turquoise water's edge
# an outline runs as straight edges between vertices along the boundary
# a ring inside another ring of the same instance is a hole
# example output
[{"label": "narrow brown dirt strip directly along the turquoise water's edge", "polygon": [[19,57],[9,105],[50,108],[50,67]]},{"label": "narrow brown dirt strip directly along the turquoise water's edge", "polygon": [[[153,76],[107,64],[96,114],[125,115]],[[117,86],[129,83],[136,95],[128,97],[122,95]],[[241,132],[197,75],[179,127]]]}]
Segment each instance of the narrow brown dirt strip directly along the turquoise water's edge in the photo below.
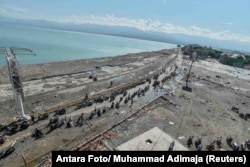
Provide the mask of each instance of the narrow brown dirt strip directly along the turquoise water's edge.
[{"label": "narrow brown dirt strip directly along the turquoise water's edge", "polygon": [[[175,49],[163,49],[160,52],[173,51]],[[134,62],[138,59],[138,55],[142,57],[148,57],[147,55],[157,53],[159,51],[152,52],[140,52],[134,54],[100,57],[100,58],[87,58],[70,61],[59,61],[40,64],[27,64],[21,65],[20,75],[22,81],[30,81],[35,79],[41,79],[46,77],[54,77],[60,75],[69,75],[74,73],[82,73],[86,71],[95,70],[96,67],[102,66],[117,66],[121,64],[127,64]],[[135,60],[136,59],[136,60]],[[9,76],[7,66],[0,67],[0,84],[9,83]]]}]

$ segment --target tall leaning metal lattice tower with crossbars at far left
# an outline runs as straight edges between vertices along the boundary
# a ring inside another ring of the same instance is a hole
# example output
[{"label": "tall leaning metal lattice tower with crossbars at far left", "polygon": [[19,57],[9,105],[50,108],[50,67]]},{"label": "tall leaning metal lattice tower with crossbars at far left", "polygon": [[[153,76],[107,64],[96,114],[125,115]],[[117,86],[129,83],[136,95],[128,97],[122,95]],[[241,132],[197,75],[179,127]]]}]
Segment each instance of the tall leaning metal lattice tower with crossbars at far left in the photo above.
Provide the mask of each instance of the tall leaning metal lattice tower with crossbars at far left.
[{"label": "tall leaning metal lattice tower with crossbars at far left", "polygon": [[23,86],[19,70],[19,61],[16,55],[35,55],[30,49],[26,48],[1,48],[1,52],[5,54],[7,67],[9,71],[10,83],[12,85],[14,99],[20,111],[21,119],[25,119],[23,101]]}]

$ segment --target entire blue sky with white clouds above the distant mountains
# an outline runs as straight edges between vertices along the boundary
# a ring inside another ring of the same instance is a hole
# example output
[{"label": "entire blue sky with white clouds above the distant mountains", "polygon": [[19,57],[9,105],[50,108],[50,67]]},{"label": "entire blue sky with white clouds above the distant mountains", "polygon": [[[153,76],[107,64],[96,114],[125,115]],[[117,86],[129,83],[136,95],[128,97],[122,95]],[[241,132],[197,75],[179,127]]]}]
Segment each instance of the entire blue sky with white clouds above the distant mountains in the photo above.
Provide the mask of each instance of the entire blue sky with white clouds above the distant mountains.
[{"label": "entire blue sky with white clouds above the distant mountains", "polygon": [[250,0],[0,0],[0,16],[250,44]]}]

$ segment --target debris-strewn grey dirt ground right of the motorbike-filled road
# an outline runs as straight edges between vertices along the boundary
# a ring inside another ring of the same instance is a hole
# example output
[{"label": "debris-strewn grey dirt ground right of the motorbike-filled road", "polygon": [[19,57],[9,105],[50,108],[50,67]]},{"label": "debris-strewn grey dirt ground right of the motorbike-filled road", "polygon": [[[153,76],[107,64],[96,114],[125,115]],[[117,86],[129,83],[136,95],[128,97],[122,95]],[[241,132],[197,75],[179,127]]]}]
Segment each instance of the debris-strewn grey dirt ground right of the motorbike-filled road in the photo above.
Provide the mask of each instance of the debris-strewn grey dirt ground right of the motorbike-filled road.
[{"label": "debris-strewn grey dirt ground right of the motorbike-filled road", "polygon": [[[203,150],[219,136],[222,147],[216,146],[215,150],[232,150],[226,143],[228,135],[238,144],[250,138],[250,119],[242,119],[231,110],[234,106],[240,113],[250,113],[250,71],[217,62],[195,62],[189,80],[192,92],[188,92],[182,86],[190,62],[183,59],[180,62],[177,76],[164,84],[165,90],[173,94],[158,98],[137,117],[113,129],[114,147],[153,127],[159,127],[184,146],[189,136],[194,135],[194,139],[201,136]],[[215,71],[211,65],[220,70]],[[189,149],[196,150],[194,146]]]}]

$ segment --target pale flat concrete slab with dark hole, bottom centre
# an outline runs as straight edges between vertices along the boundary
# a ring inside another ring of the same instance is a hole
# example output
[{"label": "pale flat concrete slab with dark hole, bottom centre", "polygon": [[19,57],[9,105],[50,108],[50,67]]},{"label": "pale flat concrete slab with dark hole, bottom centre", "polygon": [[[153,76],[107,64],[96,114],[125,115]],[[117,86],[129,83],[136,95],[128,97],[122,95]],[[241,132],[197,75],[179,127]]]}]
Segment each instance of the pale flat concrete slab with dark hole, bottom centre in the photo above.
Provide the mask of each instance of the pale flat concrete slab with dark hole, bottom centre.
[{"label": "pale flat concrete slab with dark hole, bottom centre", "polygon": [[143,134],[129,140],[126,143],[121,144],[116,149],[122,151],[140,151],[140,150],[152,150],[163,151],[168,150],[171,142],[175,141],[174,151],[187,151],[188,149],[181,143],[176,141],[167,133],[160,130],[158,127],[154,127]]}]

